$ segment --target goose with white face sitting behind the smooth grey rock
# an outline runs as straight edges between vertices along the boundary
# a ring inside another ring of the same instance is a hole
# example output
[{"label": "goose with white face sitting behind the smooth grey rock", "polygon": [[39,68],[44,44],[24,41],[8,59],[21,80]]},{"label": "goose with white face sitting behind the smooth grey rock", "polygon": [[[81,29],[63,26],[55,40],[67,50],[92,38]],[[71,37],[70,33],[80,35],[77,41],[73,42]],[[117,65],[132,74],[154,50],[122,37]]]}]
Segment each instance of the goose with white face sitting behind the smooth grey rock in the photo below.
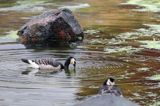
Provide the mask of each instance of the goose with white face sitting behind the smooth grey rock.
[{"label": "goose with white face sitting behind the smooth grey rock", "polygon": [[100,88],[98,93],[101,95],[111,94],[111,95],[123,97],[120,89],[117,86],[115,86],[115,79],[112,77],[109,77],[104,81],[103,86]]}]

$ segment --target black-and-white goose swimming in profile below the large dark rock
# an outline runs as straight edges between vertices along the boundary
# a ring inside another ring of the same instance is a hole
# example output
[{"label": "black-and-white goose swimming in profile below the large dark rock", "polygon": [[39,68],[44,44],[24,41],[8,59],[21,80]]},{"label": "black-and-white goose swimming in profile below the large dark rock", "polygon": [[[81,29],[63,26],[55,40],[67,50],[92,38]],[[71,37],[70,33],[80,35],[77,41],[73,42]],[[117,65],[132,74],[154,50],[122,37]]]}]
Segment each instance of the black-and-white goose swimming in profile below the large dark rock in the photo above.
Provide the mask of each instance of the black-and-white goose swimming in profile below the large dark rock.
[{"label": "black-and-white goose swimming in profile below the large dark rock", "polygon": [[55,61],[54,59],[35,59],[35,60],[21,59],[21,60],[24,63],[29,64],[30,67],[35,69],[46,69],[53,71],[62,71],[62,69],[64,69],[65,71],[68,71],[70,64],[73,64],[74,70],[76,67],[76,59],[72,56],[66,59],[64,65],[58,61]]}]

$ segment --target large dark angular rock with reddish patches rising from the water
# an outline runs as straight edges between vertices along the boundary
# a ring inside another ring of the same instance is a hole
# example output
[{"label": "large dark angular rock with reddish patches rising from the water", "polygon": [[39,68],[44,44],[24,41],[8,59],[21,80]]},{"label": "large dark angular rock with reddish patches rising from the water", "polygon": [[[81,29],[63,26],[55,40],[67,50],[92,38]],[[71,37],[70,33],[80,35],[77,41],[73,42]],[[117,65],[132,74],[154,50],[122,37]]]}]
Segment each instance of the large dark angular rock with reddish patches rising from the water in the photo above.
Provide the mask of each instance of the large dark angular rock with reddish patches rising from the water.
[{"label": "large dark angular rock with reddish patches rising from the water", "polygon": [[57,46],[83,40],[83,30],[69,9],[51,10],[36,16],[18,31],[25,45]]}]

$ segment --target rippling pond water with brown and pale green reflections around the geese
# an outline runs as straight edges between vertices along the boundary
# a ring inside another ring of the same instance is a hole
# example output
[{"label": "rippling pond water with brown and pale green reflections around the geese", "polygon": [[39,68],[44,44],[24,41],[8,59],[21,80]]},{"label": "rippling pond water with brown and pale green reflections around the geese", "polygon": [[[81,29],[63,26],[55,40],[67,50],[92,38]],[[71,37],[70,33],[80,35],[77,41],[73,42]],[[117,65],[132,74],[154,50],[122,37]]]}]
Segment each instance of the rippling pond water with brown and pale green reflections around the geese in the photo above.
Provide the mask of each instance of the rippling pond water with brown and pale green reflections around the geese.
[{"label": "rippling pond water with brown and pale green reflections around the geese", "polygon": [[[114,76],[126,98],[142,106],[158,106],[159,2],[126,3],[126,0],[0,0],[0,105],[71,106],[95,95],[105,78]],[[156,11],[147,4],[157,7]],[[36,50],[26,49],[16,41],[18,28],[34,15],[63,7],[72,9],[83,26],[83,44],[73,49]],[[64,62],[69,55],[77,59],[76,72],[21,74],[31,70],[21,58],[52,57]]]}]

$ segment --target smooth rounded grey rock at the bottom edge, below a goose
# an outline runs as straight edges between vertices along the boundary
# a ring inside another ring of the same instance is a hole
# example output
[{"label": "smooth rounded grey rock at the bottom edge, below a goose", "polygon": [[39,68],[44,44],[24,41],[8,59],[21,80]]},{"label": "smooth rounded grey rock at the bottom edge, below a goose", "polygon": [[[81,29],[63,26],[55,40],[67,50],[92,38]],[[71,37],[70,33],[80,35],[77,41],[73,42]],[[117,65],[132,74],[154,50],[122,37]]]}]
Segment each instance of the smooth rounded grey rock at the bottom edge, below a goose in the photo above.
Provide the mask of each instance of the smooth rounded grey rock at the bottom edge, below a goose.
[{"label": "smooth rounded grey rock at the bottom edge, below a goose", "polygon": [[126,98],[114,95],[98,95],[91,97],[75,106],[139,106]]}]

